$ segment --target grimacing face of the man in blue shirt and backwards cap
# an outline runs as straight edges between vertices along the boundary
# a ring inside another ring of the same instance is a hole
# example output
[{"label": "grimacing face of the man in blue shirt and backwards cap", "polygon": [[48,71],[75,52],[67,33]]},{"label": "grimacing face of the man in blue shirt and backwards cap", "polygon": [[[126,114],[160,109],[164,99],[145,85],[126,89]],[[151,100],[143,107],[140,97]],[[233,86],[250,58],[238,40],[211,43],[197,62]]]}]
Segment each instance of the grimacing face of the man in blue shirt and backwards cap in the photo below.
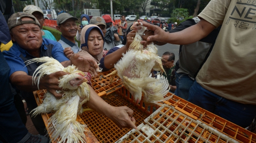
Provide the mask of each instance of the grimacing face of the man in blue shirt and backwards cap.
[{"label": "grimacing face of the man in blue shirt and backwards cap", "polygon": [[[22,21],[33,21],[32,18],[23,17]],[[11,39],[27,50],[38,50],[43,42],[40,27],[36,24],[23,24],[11,29]]]}]

